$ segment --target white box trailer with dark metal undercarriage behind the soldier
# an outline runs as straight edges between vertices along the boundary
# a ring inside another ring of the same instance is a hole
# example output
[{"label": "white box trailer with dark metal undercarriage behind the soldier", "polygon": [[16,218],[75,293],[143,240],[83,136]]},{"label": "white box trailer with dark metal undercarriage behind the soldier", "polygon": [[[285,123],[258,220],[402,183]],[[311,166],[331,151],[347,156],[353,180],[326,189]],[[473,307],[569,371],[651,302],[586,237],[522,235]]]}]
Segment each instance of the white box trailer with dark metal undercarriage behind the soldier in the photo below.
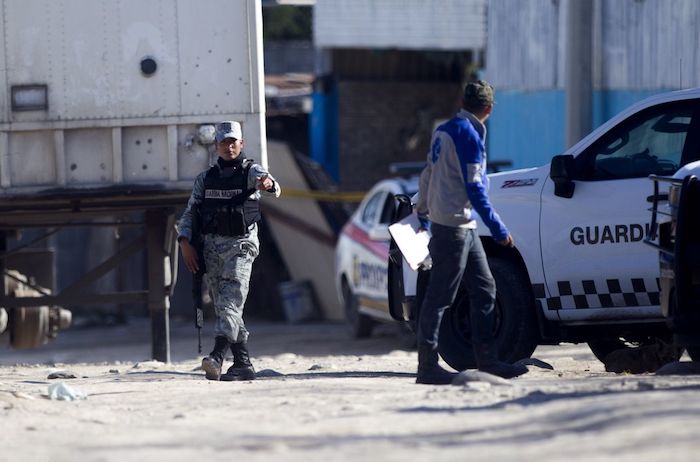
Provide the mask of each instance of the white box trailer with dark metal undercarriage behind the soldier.
[{"label": "white box trailer with dark metal undercarriage behind the soldier", "polygon": [[[143,301],[153,356],[167,361],[171,225],[214,156],[211,124],[240,121],[246,149],[267,164],[260,0],[0,6],[0,255],[11,230],[145,215],[144,238],[60,293],[31,300],[5,290],[7,327],[19,327],[13,311],[28,307]],[[87,283],[144,247],[147,291],[85,294]]]}]

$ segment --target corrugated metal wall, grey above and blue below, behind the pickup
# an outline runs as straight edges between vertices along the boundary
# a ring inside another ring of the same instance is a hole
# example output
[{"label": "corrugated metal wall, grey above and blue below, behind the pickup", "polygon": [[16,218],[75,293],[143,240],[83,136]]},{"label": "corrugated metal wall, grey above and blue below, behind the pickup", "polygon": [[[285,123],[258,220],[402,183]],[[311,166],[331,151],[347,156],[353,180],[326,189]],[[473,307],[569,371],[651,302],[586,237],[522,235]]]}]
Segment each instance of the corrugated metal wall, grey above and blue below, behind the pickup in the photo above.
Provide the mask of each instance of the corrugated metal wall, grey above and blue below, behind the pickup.
[{"label": "corrugated metal wall, grey above and blue below, behind the pickup", "polygon": [[[531,167],[566,149],[571,1],[584,0],[489,1],[484,76],[498,103],[489,119],[492,159]],[[652,94],[700,86],[700,1],[591,1],[593,127]]]}]

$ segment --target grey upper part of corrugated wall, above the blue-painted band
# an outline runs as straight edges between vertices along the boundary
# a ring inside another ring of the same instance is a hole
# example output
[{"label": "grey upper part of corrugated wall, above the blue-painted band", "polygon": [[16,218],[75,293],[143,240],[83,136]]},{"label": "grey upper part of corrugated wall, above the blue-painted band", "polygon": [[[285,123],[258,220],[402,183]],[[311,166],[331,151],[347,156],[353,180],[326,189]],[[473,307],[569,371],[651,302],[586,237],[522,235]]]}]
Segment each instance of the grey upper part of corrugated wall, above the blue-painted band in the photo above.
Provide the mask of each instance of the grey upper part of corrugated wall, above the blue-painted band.
[{"label": "grey upper part of corrugated wall, above the blue-painted band", "polygon": [[[563,88],[569,1],[488,3],[486,75],[498,88]],[[593,1],[595,88],[700,86],[700,2]]]}]

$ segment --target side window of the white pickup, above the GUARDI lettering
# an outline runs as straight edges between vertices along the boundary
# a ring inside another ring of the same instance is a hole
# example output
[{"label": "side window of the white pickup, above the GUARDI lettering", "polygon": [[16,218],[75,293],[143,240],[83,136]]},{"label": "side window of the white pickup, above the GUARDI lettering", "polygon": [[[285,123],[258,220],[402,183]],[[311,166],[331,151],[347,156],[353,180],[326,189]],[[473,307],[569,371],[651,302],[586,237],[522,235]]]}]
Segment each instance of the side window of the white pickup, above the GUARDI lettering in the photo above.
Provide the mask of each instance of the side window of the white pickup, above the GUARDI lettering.
[{"label": "side window of the white pickup, above the GUARDI lettering", "polygon": [[692,115],[688,105],[665,105],[632,116],[580,156],[581,179],[673,175],[681,165]]}]

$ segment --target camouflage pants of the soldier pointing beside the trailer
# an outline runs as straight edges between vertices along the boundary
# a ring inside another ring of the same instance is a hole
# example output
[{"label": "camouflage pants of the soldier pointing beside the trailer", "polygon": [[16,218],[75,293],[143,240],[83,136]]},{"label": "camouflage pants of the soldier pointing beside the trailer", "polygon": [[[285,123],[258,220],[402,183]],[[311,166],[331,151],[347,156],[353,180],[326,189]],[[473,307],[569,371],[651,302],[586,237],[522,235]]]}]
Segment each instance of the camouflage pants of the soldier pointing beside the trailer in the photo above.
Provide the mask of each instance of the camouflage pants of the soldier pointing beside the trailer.
[{"label": "camouflage pants of the soldier pointing beside the trailer", "polygon": [[260,242],[255,225],[247,238],[231,238],[208,234],[204,239],[204,275],[214,302],[216,323],[214,335],[240,343],[248,340],[243,322],[243,306],[248,297],[253,261]]}]

